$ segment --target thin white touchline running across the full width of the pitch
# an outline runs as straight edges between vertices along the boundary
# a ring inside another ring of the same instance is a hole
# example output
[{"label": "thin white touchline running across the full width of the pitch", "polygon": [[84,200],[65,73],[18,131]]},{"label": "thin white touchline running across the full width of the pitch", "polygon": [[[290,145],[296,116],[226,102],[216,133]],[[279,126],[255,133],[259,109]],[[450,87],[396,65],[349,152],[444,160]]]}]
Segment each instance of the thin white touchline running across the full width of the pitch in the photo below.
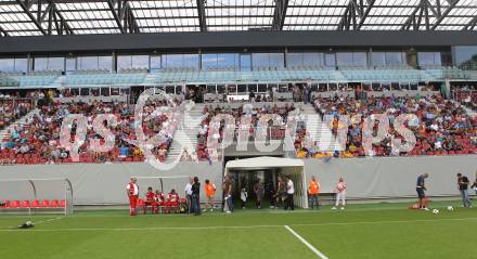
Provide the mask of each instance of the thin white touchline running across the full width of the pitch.
[{"label": "thin white touchline running across the full width of the pitch", "polygon": [[[52,219],[53,220],[53,219]],[[456,219],[422,219],[422,220],[388,220],[388,221],[356,221],[356,222],[326,222],[326,223],[304,223],[289,224],[292,226],[326,226],[326,225],[359,225],[359,224],[387,224],[387,223],[420,223],[420,222],[438,222],[438,221],[470,221],[477,218],[456,218]],[[70,228],[70,229],[28,229],[28,232],[68,232],[68,231],[154,231],[154,230],[241,230],[241,229],[271,229],[283,228],[279,224],[263,225],[210,225],[210,226],[152,226],[152,228]],[[0,229],[0,232],[12,232],[22,230]]]}]

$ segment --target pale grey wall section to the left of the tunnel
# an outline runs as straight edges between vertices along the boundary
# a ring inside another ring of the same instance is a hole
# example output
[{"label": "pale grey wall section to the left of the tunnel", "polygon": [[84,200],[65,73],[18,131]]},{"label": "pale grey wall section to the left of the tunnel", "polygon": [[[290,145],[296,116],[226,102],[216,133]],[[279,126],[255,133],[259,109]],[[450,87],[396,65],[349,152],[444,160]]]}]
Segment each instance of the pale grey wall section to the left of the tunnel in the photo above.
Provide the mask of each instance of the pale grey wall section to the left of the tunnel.
[{"label": "pale grey wall section to the left of the tunnel", "polygon": [[[73,184],[73,196],[76,205],[126,204],[128,202],[126,184],[131,176],[197,176],[202,184],[204,184],[205,179],[209,179],[220,186],[222,181],[221,168],[221,163],[211,165],[208,163],[181,163],[168,172],[159,171],[146,163],[1,166],[0,180],[67,178]],[[188,181],[188,179],[164,180],[164,187],[168,189],[165,191],[169,192],[173,187],[183,196],[183,189]],[[12,183],[0,181],[0,199],[31,198],[30,193],[27,192],[27,186],[25,186],[26,183],[23,186],[20,183],[15,184],[18,186],[18,191],[12,193],[12,189],[8,187]],[[52,183],[54,186],[52,189],[48,189],[44,183],[36,184],[39,185],[37,190],[39,198],[62,198],[57,197],[57,189],[60,187],[57,182]],[[159,187],[157,180],[139,179],[138,185],[142,194],[150,185],[154,189]]]}]

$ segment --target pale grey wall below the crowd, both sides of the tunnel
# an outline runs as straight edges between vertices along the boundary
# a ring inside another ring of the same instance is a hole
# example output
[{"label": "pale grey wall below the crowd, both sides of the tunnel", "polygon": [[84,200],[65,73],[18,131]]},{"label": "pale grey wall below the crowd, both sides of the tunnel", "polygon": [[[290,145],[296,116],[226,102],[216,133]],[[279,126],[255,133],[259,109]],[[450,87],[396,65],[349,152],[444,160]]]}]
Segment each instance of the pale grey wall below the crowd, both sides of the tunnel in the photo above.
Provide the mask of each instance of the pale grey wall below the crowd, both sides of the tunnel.
[{"label": "pale grey wall below the crowd, both sides of the tunnel", "polygon": [[[477,156],[435,156],[435,157],[384,157],[306,159],[307,182],[317,176],[322,192],[332,192],[338,178],[343,176],[348,184],[348,197],[408,197],[415,196],[415,182],[420,173],[428,172],[428,194],[457,195],[455,174],[460,171],[474,180],[477,170]],[[181,163],[173,170],[162,172],[144,163],[125,164],[70,164],[0,166],[1,179],[68,178],[73,184],[75,204],[126,204],[125,186],[131,176],[197,176],[201,182],[210,179],[219,187],[222,181],[222,164]],[[182,195],[186,179],[168,182],[168,187],[176,187]],[[153,181],[140,180],[144,193]],[[153,187],[157,187],[154,185]],[[0,182],[0,199],[31,198],[26,186],[13,187]],[[53,197],[57,190],[48,190],[41,184],[38,190],[44,198]],[[218,191],[217,198],[221,196]]]}]

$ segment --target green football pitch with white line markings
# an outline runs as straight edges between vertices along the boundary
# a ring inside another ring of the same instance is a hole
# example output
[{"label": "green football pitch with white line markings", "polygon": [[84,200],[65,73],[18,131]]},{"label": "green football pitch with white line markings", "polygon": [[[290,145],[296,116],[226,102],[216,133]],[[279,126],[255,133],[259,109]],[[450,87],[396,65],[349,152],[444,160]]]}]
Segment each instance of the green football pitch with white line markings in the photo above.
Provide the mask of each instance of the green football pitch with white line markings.
[{"label": "green football pitch with white line markings", "polygon": [[[448,211],[447,206],[454,206]],[[232,215],[0,216],[0,258],[477,258],[477,209],[433,203],[350,205],[346,210],[236,209]],[[30,219],[35,228],[14,226]]]}]

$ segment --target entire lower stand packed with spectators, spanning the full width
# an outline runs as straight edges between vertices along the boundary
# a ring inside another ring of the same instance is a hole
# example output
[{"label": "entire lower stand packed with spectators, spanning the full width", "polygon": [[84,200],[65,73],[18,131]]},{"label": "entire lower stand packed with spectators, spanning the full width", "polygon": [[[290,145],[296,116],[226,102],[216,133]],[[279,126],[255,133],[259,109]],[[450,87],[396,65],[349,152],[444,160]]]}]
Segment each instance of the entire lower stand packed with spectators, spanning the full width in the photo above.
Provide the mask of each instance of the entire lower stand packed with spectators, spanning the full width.
[{"label": "entire lower stand packed with spectators, spanning the full width", "polygon": [[[311,92],[313,96],[313,106],[315,112],[320,114],[322,120],[319,121],[320,127],[325,124],[323,116],[325,115],[354,115],[362,114],[363,116],[374,113],[387,112],[391,117],[396,117],[401,113],[415,113],[418,116],[418,121],[413,121],[412,129],[417,135],[417,146],[414,151],[408,154],[408,156],[414,155],[457,155],[457,154],[473,154],[477,152],[476,146],[476,118],[467,114],[468,109],[459,106],[459,102],[470,105],[475,101],[468,101],[472,93],[475,93],[468,87],[454,89],[453,95],[455,101],[444,100],[440,95],[430,91],[427,95],[421,95],[420,93],[412,94],[405,90],[388,91],[386,89],[368,89],[368,91],[359,89],[343,88],[341,92]],[[276,89],[269,89],[263,94],[249,94],[248,100],[253,101],[257,107],[250,112],[250,114],[244,114],[243,103],[236,101],[235,105],[232,101],[229,104],[224,103],[209,103],[203,107],[202,114],[208,113],[208,116],[202,121],[199,127],[195,128],[194,145],[196,146],[196,154],[199,160],[212,160],[220,159],[219,154],[210,155],[206,148],[207,138],[218,138],[221,141],[221,135],[209,135],[207,125],[211,117],[218,113],[232,114],[236,121],[240,121],[238,117],[242,115],[252,116],[254,126],[250,128],[250,133],[254,132],[254,127],[257,126],[258,118],[263,114],[279,113],[283,117],[283,121],[287,119],[287,113],[294,109],[296,106],[294,102],[284,103],[270,103],[266,101],[278,101],[275,95],[281,93],[289,93],[291,99],[295,102],[302,102],[305,91],[302,87],[288,86],[285,89],[281,89],[279,92]],[[186,90],[189,92],[189,90]],[[36,94],[39,98],[38,92],[30,92],[28,95]],[[388,94],[379,94],[388,93]],[[401,94],[403,93],[403,94]],[[465,95],[465,94],[467,95]],[[57,93],[49,93],[48,95],[70,96],[70,92],[61,91]],[[194,93],[196,94],[196,93]],[[191,99],[194,94],[185,94],[186,99]],[[202,92],[198,92],[202,94]],[[206,95],[207,93],[205,93]],[[409,95],[411,94],[411,95]],[[463,95],[464,94],[464,95]],[[44,96],[44,94],[42,94]],[[62,103],[55,99],[55,102],[43,104],[38,106],[38,115],[27,118],[22,124],[15,125],[13,128],[9,128],[3,142],[0,156],[2,164],[49,164],[49,163],[72,163],[68,151],[60,146],[59,131],[62,119],[67,114],[85,114],[88,117],[88,138],[98,138],[92,131],[92,120],[95,115],[101,113],[113,113],[118,118],[118,126],[113,128],[113,132],[116,135],[115,147],[106,154],[95,154],[87,148],[87,143],[80,147],[80,163],[120,163],[120,161],[143,161],[144,158],[138,147],[132,146],[121,139],[133,139],[134,130],[128,125],[133,124],[133,105],[125,102],[118,102],[117,100],[111,100],[109,102],[98,101],[105,96],[91,96],[95,98],[89,102],[66,102]],[[86,98],[88,99],[88,98]],[[21,99],[18,99],[21,100]],[[204,96],[207,101],[207,98]],[[216,100],[217,101],[217,100]],[[15,106],[12,104],[15,103]],[[26,115],[33,108],[33,100],[13,102],[12,100],[2,100],[2,106],[5,112],[14,111],[13,113],[3,113],[4,127],[15,119]],[[278,106],[279,104],[279,106]],[[147,103],[144,108],[147,115],[154,113],[157,107],[167,105],[165,101],[152,101]],[[282,105],[282,106],[280,106]],[[302,104],[298,109],[307,107]],[[194,116],[198,116],[199,113],[195,113]],[[14,116],[14,117],[11,117]],[[170,152],[170,145],[172,144],[176,122],[167,125],[166,117],[159,117],[154,119],[146,119],[143,122],[143,129],[146,134],[160,133],[165,135],[168,141],[162,143],[157,148],[153,151],[159,160],[165,161]],[[326,125],[331,132],[336,135],[336,119],[332,125]],[[343,127],[343,126],[340,126]],[[297,129],[297,139],[295,142],[297,150],[297,157],[359,157],[369,154],[364,154],[363,148],[360,146],[361,134],[356,130],[361,129],[361,122],[349,126],[348,141],[346,147],[330,146],[328,151],[308,150],[304,144],[306,139],[305,124],[300,124]],[[323,133],[323,132],[322,132]],[[193,135],[194,133],[192,133]],[[270,130],[268,139],[282,139],[284,134],[283,127],[274,127]],[[395,134],[395,132],[390,132]],[[48,140],[48,141],[47,141]],[[121,151],[125,154],[121,154]],[[375,144],[375,156],[392,156],[397,155],[390,147],[389,140],[384,140],[379,144]],[[190,155],[186,152],[182,152],[180,147],[172,148],[173,157],[181,156],[182,160],[191,160]]]}]

